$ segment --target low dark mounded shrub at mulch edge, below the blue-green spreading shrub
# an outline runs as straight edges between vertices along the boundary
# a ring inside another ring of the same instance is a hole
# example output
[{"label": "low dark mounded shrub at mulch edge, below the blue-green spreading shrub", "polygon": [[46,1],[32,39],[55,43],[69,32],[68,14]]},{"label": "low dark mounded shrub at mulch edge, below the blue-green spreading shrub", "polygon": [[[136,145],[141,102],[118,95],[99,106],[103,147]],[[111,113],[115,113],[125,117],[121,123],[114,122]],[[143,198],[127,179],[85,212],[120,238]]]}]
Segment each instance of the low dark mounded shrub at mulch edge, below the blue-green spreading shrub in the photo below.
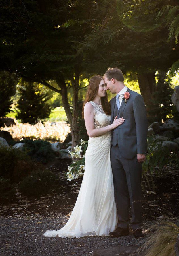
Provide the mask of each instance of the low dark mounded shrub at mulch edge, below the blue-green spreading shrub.
[{"label": "low dark mounded shrub at mulch edge, below the blue-green spreading shrub", "polygon": [[40,197],[56,187],[60,187],[58,176],[49,170],[38,170],[20,183],[20,192],[28,197]]}]

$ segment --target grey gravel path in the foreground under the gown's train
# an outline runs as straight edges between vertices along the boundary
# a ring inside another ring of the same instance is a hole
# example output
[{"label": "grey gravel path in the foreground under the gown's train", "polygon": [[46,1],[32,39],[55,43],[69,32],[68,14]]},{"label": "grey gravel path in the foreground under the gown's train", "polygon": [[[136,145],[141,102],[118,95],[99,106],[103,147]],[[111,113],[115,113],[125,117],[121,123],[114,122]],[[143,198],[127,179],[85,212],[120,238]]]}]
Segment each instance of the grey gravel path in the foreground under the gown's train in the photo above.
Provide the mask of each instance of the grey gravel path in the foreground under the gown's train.
[{"label": "grey gravel path in the foreground under the gown's train", "polygon": [[[48,238],[47,229],[59,229],[66,223],[68,214],[53,217],[26,216],[0,217],[0,255],[92,255],[94,249],[113,245],[141,245],[143,240],[131,234],[121,238],[86,236],[83,238]],[[148,223],[145,223],[145,226]],[[147,233],[147,230],[145,231]]]}]

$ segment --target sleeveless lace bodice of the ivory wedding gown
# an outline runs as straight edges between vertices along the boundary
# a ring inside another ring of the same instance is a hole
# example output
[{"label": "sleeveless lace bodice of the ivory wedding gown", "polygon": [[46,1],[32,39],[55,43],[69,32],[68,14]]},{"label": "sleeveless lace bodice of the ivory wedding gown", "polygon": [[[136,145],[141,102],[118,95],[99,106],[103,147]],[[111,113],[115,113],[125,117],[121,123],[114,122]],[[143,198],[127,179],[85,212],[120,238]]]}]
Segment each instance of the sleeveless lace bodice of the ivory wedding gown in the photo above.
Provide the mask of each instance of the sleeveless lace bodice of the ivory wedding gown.
[{"label": "sleeveless lace bodice of the ivory wedding gown", "polygon": [[104,126],[107,126],[110,124],[111,121],[111,116],[110,115],[106,115],[104,113],[104,110],[102,109],[101,105],[98,105],[96,103],[94,103],[93,101],[89,101],[95,110],[95,115],[94,115],[94,126],[96,129],[98,128],[102,128]]}]

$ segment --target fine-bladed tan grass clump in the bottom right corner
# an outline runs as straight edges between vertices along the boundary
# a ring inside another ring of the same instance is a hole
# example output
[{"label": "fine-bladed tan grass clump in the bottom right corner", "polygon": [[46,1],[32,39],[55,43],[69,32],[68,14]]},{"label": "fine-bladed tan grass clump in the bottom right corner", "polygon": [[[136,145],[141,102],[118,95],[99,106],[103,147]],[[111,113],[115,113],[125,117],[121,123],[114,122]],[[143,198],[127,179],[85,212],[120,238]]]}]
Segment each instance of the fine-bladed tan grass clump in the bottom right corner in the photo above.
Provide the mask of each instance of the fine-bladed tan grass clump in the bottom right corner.
[{"label": "fine-bladed tan grass clump in the bottom right corner", "polygon": [[179,220],[175,223],[159,221],[151,229],[154,232],[145,239],[144,244],[133,256],[176,256],[175,243],[179,234]]}]

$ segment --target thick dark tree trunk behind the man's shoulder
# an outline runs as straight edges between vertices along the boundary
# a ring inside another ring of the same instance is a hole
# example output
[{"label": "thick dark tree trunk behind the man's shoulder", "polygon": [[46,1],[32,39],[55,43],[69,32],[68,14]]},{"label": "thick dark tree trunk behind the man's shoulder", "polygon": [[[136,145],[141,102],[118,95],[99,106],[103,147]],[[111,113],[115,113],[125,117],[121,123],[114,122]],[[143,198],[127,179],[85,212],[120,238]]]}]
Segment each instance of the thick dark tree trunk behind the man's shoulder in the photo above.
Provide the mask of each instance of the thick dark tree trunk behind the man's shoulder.
[{"label": "thick dark tree trunk behind the man's shoulder", "polygon": [[149,110],[152,104],[151,100],[153,99],[152,93],[156,87],[155,73],[138,73],[137,78],[146,109]]}]

